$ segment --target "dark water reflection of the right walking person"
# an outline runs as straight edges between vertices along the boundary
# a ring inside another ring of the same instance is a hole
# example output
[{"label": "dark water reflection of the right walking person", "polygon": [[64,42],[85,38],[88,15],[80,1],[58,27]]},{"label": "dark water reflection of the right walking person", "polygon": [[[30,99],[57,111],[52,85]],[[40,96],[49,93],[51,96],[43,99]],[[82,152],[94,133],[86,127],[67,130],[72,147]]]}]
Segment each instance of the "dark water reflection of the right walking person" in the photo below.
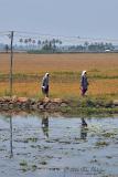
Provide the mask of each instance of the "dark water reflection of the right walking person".
[{"label": "dark water reflection of the right walking person", "polygon": [[87,123],[84,118],[82,118],[82,126],[81,126],[81,138],[86,139],[87,137]]}]

